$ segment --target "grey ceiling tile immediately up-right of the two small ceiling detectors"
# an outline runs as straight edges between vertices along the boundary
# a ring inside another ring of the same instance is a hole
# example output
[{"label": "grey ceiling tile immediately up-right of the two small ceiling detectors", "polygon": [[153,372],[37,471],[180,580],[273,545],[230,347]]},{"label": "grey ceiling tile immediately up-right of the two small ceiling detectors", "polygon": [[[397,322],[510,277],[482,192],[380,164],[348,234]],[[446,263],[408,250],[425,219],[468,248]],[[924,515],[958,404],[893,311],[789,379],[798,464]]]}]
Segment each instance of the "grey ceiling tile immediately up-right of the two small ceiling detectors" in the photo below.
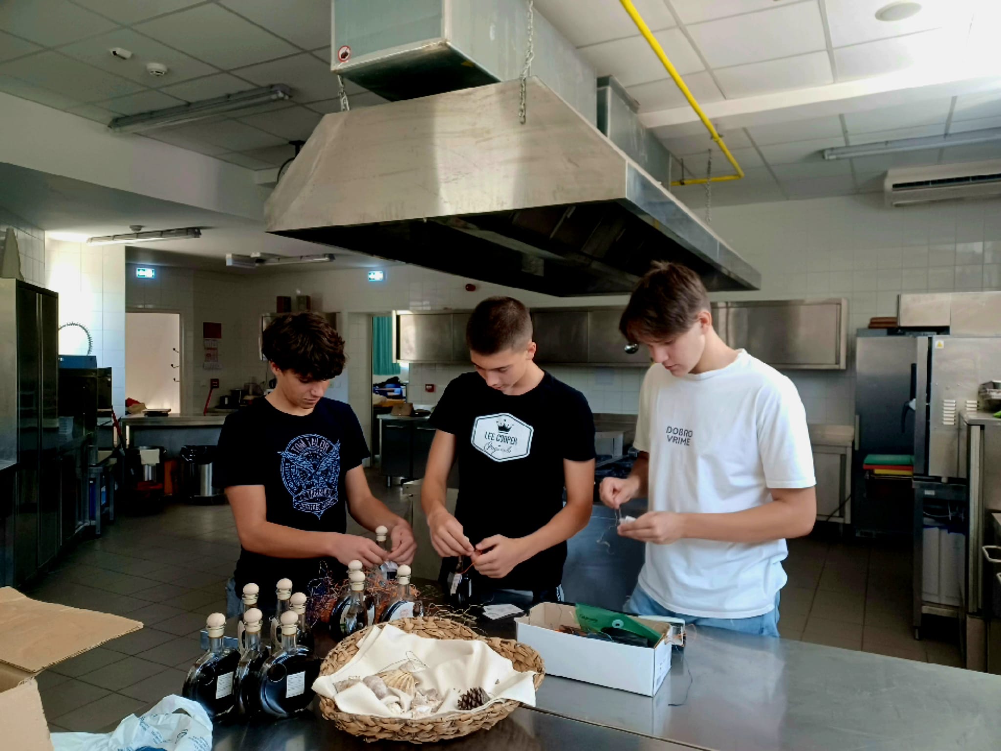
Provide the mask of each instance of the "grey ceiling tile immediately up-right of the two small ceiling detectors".
[{"label": "grey ceiling tile immediately up-right of the two small ceiling detectors", "polygon": [[135,29],[227,70],[297,51],[284,39],[214,4],[146,21]]}]

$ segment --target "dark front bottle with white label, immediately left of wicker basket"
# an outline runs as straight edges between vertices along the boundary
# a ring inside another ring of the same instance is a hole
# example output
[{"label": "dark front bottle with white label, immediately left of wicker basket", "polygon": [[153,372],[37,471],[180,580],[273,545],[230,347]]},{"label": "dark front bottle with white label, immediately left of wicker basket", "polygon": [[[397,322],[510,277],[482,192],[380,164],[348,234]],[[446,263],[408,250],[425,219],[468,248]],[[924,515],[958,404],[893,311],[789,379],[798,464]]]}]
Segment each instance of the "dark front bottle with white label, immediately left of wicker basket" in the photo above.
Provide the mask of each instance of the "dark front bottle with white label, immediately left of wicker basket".
[{"label": "dark front bottle with white label, immediately left of wicker basket", "polygon": [[309,707],[312,684],[320,661],[295,641],[299,620],[295,613],[281,615],[281,649],[272,653],[257,673],[261,710],[272,717],[289,717]]}]

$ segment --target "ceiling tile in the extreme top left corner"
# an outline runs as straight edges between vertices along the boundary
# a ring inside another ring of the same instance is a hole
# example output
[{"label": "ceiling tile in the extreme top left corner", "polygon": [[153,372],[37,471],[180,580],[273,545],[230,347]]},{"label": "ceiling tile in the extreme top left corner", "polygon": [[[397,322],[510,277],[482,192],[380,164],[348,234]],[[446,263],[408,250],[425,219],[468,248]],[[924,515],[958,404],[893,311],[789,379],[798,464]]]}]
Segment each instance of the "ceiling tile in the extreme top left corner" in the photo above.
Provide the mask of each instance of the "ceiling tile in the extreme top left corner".
[{"label": "ceiling tile in the extreme top left corner", "polygon": [[115,27],[96,13],[66,0],[4,0],[0,29],[46,47],[75,42]]}]

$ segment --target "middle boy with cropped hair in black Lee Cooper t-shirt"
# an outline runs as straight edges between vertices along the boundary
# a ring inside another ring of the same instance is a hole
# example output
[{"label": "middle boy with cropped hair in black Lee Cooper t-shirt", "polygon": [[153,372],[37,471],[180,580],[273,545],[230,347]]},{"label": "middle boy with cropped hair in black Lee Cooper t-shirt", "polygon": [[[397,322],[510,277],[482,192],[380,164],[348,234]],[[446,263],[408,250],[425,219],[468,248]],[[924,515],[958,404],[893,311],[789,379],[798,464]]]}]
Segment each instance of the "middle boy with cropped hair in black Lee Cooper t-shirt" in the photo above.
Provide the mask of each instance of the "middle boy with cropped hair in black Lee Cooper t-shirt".
[{"label": "middle boy with cropped hair in black Lee Cooper t-shirt", "polygon": [[[431,544],[445,559],[442,579],[456,558],[471,561],[482,602],[529,599],[511,591],[561,600],[567,540],[591,519],[594,418],[584,395],[536,364],[532,334],[519,300],[480,302],[465,334],[476,371],[452,381],[431,415],[437,431],[420,492]],[[455,459],[453,517],[444,501]]]}]

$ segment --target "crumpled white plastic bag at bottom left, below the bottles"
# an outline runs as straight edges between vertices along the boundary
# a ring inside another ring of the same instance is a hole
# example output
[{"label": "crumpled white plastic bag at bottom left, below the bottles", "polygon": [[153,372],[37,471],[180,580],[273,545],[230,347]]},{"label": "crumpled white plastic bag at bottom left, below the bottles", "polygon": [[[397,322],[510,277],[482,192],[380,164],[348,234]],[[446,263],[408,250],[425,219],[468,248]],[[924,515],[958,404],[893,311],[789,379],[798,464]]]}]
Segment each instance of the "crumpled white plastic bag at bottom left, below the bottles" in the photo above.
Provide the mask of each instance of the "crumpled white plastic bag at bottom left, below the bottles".
[{"label": "crumpled white plastic bag at bottom left, below the bottles", "polygon": [[212,721],[198,702],[167,696],[142,717],[129,715],[111,734],[53,733],[55,751],[209,751]]}]

